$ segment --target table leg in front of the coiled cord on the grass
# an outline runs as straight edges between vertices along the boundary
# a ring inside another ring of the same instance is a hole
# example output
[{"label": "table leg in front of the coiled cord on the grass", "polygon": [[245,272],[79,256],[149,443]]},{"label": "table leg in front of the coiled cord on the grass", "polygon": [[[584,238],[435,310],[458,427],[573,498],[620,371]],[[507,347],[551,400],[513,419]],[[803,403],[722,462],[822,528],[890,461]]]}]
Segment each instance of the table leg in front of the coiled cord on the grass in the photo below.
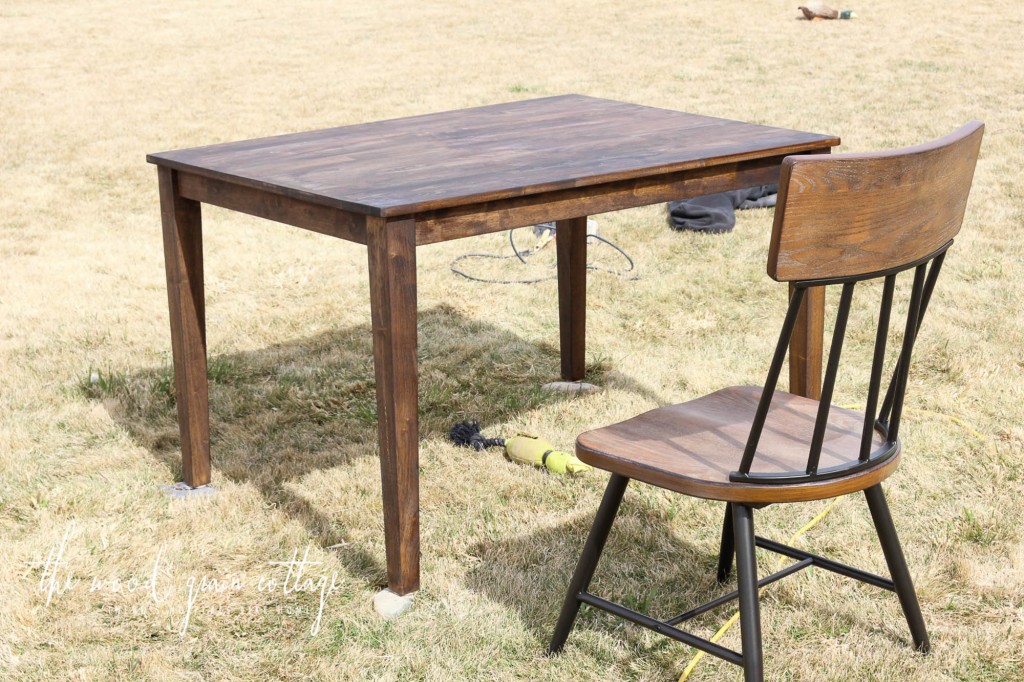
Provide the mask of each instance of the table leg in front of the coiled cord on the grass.
[{"label": "table leg in front of the coiled cord on the grass", "polygon": [[555,224],[562,379],[581,381],[587,367],[587,217]]}]

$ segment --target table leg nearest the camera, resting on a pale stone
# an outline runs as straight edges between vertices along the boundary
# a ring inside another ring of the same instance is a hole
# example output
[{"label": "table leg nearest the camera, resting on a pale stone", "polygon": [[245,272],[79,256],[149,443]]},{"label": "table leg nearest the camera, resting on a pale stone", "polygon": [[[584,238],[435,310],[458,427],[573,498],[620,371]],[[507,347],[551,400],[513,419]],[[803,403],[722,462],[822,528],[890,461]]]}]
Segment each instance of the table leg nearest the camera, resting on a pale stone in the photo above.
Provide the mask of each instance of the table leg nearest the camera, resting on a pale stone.
[{"label": "table leg nearest the camera, resting on a pale stone", "polygon": [[403,595],[420,587],[415,223],[368,219],[367,249],[387,582]]}]

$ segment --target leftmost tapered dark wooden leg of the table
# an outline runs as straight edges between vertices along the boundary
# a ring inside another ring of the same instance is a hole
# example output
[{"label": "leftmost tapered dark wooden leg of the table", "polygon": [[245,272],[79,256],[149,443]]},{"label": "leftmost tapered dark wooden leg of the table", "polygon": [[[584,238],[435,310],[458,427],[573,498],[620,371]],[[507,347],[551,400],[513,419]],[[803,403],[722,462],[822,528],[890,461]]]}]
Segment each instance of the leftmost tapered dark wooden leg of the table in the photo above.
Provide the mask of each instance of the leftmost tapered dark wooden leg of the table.
[{"label": "leftmost tapered dark wooden leg of the table", "polygon": [[178,193],[177,173],[158,168],[164,265],[171,315],[174,387],[185,483],[210,482],[210,407],[206,377],[206,301],[203,293],[203,217],[199,202]]}]

